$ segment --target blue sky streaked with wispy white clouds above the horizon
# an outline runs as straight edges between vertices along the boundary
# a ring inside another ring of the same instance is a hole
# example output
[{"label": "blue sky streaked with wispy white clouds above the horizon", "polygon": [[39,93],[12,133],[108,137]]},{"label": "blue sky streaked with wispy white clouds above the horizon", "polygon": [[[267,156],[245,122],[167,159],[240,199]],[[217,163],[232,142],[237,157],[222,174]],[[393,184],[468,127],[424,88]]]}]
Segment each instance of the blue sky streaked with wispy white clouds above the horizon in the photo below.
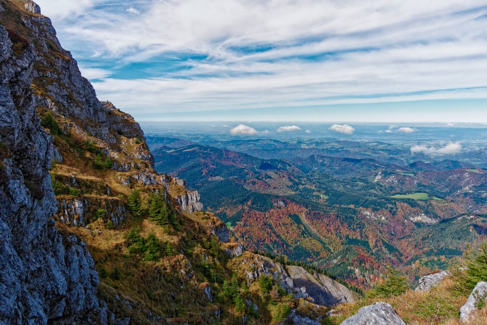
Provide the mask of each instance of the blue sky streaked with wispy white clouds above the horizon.
[{"label": "blue sky streaked with wispy white clouds above the horizon", "polygon": [[37,0],[139,121],[487,122],[487,0]]}]

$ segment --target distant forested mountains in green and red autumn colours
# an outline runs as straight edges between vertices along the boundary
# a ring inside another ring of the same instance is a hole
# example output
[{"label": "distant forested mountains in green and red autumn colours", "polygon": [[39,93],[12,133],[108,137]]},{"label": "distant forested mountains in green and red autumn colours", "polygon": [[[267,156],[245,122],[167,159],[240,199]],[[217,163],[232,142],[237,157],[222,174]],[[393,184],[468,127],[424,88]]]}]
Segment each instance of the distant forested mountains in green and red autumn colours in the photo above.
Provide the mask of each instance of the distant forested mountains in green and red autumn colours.
[{"label": "distant forested mountains in green and red autumn colours", "polygon": [[487,172],[462,159],[412,160],[384,142],[147,141],[156,170],[185,178],[248,249],[359,287],[388,265],[412,278],[444,268],[485,236]]}]

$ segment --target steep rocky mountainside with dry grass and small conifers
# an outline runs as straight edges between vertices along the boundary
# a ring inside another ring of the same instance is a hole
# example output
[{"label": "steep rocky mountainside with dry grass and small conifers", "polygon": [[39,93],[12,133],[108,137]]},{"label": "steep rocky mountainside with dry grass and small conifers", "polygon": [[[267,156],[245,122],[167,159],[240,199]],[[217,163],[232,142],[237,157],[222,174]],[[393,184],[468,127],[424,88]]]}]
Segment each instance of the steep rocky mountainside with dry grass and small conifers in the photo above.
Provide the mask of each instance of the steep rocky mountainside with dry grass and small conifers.
[{"label": "steep rocky mountainside with dry grass and small conifers", "polygon": [[230,241],[39,7],[0,3],[0,323],[278,324],[354,300]]}]

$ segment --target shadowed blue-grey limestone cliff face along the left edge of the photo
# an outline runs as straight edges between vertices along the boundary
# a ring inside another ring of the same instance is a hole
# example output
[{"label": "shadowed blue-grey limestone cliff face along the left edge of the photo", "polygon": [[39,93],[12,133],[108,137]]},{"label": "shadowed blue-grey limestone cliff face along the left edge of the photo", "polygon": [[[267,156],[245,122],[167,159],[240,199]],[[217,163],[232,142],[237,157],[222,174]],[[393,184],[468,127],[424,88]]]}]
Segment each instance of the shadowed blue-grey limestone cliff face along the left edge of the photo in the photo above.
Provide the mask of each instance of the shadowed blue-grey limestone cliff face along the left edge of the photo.
[{"label": "shadowed blue-grey limestone cliff face along the left edge of the photo", "polygon": [[106,324],[86,245],[61,237],[50,218],[54,151],[36,114],[34,61],[33,46],[14,53],[0,25],[0,323]]}]

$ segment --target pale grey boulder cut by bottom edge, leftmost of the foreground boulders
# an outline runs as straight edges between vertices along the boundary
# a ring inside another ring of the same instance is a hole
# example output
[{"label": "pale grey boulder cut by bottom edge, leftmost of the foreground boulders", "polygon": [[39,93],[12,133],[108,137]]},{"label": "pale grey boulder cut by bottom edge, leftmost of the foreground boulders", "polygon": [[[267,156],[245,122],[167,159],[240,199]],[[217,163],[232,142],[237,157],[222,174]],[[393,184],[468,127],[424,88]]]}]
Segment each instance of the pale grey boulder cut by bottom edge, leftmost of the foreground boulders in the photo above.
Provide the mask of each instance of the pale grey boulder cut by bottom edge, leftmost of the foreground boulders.
[{"label": "pale grey boulder cut by bottom edge, leftmost of the foreground boulders", "polygon": [[341,325],[406,325],[406,323],[397,316],[391,305],[377,302],[360,308],[354,316],[343,321]]}]

